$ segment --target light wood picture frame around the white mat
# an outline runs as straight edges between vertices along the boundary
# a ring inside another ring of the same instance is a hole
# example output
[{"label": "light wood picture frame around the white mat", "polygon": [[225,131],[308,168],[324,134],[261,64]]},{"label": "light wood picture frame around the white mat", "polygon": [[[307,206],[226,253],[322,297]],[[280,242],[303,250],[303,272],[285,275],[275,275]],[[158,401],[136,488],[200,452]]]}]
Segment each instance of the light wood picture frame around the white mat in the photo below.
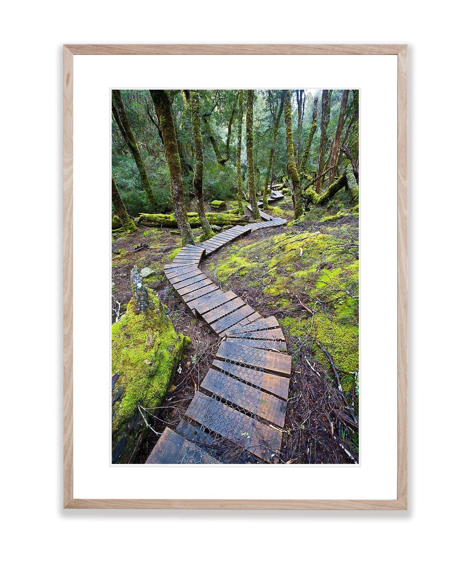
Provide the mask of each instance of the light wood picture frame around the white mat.
[{"label": "light wood picture frame around the white mat", "polygon": [[[396,55],[397,498],[394,500],[82,499],[73,487],[73,62],[75,55]],[[63,47],[63,506],[86,509],[405,510],[408,497],[408,48],[406,45],[65,45]]]}]

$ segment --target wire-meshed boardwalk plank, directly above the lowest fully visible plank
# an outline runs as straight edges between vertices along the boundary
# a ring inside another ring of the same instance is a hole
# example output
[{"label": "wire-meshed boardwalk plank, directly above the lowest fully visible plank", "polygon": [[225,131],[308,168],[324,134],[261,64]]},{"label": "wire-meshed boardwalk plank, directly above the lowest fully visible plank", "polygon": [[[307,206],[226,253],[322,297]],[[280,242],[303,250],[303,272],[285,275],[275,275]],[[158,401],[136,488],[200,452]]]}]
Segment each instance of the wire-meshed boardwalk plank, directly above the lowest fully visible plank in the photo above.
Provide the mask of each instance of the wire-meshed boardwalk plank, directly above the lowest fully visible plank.
[{"label": "wire-meshed boardwalk plank, directly above the lowest fully visible plank", "polygon": [[286,401],[249,386],[228,374],[209,369],[201,387],[267,422],[284,426]]}]

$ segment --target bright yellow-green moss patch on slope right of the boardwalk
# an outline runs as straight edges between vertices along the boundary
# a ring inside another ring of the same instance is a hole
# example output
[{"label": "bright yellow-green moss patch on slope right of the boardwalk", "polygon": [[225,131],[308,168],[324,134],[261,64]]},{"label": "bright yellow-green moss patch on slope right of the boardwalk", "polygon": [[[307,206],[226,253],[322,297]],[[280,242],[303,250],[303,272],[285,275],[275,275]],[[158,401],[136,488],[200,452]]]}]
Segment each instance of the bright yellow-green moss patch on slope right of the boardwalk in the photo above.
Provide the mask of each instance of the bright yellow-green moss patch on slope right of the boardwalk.
[{"label": "bright yellow-green moss patch on slope right of the boardwalk", "polygon": [[[329,362],[316,339],[330,352],[337,368],[352,372],[358,364],[359,262],[357,242],[353,242],[357,224],[327,225],[326,230],[287,231],[246,246],[239,244],[213,270],[220,280],[240,273],[247,285],[261,289],[270,306],[287,314],[294,310],[285,318],[278,316],[281,326],[301,342],[308,341],[326,368]],[[297,317],[298,296],[316,309],[313,325],[305,310]],[[343,373],[344,392],[352,385],[352,375]]]}]

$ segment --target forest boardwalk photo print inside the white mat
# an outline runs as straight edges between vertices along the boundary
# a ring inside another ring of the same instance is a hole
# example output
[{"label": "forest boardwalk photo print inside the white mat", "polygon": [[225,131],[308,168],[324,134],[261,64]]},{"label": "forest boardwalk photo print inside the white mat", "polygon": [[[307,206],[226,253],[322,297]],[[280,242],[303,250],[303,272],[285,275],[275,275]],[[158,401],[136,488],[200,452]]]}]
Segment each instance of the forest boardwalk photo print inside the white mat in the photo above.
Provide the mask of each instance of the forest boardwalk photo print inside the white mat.
[{"label": "forest boardwalk photo print inside the white mat", "polygon": [[112,90],[112,463],[359,463],[359,90]]}]

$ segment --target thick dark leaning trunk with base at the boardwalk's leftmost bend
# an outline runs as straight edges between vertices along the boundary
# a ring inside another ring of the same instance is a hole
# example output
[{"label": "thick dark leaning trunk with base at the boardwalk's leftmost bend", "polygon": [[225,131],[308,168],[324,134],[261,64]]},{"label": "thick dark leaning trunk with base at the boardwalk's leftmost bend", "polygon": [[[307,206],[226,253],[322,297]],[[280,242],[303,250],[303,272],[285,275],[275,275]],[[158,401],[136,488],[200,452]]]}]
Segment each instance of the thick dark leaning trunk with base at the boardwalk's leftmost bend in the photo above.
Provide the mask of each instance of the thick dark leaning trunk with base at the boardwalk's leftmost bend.
[{"label": "thick dark leaning trunk with base at the boardwalk's leftmost bend", "polygon": [[164,152],[166,154],[167,166],[169,167],[172,206],[174,207],[177,224],[182,236],[182,243],[184,245],[194,244],[195,241],[188,221],[187,209],[185,208],[184,184],[182,182],[182,169],[177,148],[174,120],[172,119],[171,102],[166,90],[149,90],[149,93],[155,104],[164,139]]}]

